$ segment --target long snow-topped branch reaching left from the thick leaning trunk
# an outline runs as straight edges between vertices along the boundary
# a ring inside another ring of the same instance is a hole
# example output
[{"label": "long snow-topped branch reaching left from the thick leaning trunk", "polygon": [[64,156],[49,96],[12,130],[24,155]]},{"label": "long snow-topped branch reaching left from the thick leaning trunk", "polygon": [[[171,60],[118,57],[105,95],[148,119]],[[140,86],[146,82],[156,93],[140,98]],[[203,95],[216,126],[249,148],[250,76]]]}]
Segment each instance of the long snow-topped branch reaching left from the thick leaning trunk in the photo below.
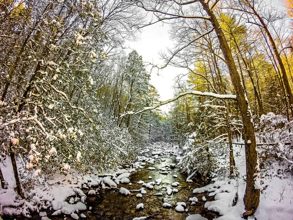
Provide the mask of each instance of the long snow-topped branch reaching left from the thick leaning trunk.
[{"label": "long snow-topped branch reaching left from the thick leaning trunk", "polygon": [[202,91],[192,90],[192,91],[187,91],[187,92],[179,93],[174,98],[168,99],[168,100],[166,100],[164,102],[160,102],[159,104],[157,104],[155,106],[152,106],[152,107],[145,107],[144,109],[139,110],[139,111],[136,111],[136,112],[134,112],[134,111],[127,111],[124,114],[122,114],[120,116],[120,118],[122,118],[122,117],[124,117],[124,116],[126,116],[128,114],[139,114],[139,113],[142,113],[142,112],[147,111],[147,110],[157,109],[160,106],[164,106],[166,104],[169,104],[169,103],[171,103],[171,102],[173,102],[173,101],[175,101],[175,100],[177,100],[180,97],[185,96],[185,95],[199,95],[199,96],[212,97],[212,98],[216,98],[216,99],[231,99],[231,100],[236,100],[236,95],[216,94],[216,93],[212,93],[212,92],[202,92]]}]

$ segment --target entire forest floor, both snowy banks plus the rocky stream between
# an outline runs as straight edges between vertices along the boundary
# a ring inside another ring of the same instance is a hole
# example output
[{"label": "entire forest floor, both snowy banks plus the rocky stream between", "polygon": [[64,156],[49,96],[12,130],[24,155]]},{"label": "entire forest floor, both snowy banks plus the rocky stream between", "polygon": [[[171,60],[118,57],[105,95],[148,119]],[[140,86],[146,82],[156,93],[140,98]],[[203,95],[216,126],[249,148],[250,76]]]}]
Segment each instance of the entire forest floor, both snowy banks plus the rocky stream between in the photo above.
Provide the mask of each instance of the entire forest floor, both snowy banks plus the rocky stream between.
[{"label": "entire forest floor, both snowy banks plus the rocky stream between", "polygon": [[[243,151],[234,150],[241,175],[245,172]],[[6,167],[1,168],[10,187],[0,190],[4,220],[212,220],[220,215],[222,220],[238,220],[243,213],[243,179],[215,176],[207,185],[195,177],[187,183],[188,176],[176,165],[180,160],[177,149],[167,143],[149,146],[135,163],[115,172],[55,176],[27,192],[27,200],[17,198],[9,158],[6,160]],[[266,179],[255,219],[293,220],[293,181],[277,174],[276,164],[272,166],[275,175],[267,174],[272,178]]]}]

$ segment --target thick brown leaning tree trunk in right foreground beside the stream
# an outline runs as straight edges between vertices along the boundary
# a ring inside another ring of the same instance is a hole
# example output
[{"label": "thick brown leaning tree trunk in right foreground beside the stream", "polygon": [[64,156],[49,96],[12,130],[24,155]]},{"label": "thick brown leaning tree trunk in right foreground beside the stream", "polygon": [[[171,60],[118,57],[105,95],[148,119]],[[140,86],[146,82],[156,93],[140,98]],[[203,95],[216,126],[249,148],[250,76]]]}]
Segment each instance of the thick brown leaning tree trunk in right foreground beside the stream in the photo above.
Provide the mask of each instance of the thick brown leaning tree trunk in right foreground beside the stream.
[{"label": "thick brown leaning tree trunk in right foreground beside the stream", "polygon": [[254,212],[259,204],[260,190],[254,187],[255,175],[259,174],[258,156],[256,151],[255,132],[252,121],[251,109],[248,103],[248,99],[244,88],[241,84],[241,79],[237,71],[237,67],[232,57],[230,47],[227,43],[227,39],[220,27],[220,24],[215,17],[212,9],[208,3],[204,0],[200,1],[210,17],[210,22],[213,25],[217,38],[220,43],[220,48],[224,54],[227,66],[229,68],[231,81],[236,92],[237,102],[239,105],[240,113],[243,123],[243,138],[245,141],[245,153],[246,153],[246,175],[247,184],[244,196],[245,209],[247,213]]}]

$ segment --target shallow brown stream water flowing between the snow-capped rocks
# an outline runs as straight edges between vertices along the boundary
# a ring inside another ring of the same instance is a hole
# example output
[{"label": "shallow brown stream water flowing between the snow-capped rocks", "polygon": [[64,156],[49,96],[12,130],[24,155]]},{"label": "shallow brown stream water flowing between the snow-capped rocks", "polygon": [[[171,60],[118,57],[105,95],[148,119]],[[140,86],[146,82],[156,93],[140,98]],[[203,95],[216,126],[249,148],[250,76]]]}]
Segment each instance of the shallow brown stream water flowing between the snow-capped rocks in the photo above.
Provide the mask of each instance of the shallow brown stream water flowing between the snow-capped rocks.
[{"label": "shallow brown stream water flowing between the snow-capped rocks", "polygon": [[[176,165],[174,169],[170,169],[170,164],[177,164],[176,152],[164,151],[161,155],[152,155],[151,152],[158,149],[150,149],[145,156],[152,157],[155,159],[154,164],[146,165],[142,169],[138,169],[129,177],[131,184],[119,184],[117,189],[105,189],[99,190],[97,195],[88,196],[86,198],[87,210],[82,211],[86,216],[86,220],[132,220],[135,217],[146,216],[149,220],[185,220],[188,215],[200,214],[202,217],[212,220],[217,218],[219,215],[212,211],[204,208],[205,201],[202,197],[205,196],[207,201],[213,200],[213,197],[208,197],[209,193],[192,194],[192,190],[195,188],[203,187],[206,185],[201,178],[193,178],[192,183],[186,183],[187,175],[183,173],[180,168]],[[162,150],[162,149],[160,149]],[[145,157],[143,156],[143,157]],[[144,162],[144,159],[141,159]],[[148,167],[153,167],[155,170],[149,170]],[[162,174],[164,168],[167,170],[168,174]],[[173,177],[177,175],[177,177]],[[152,179],[148,177],[151,176]],[[142,188],[141,184],[137,182],[142,180],[145,182],[155,181],[156,179],[162,179],[162,183],[159,185],[154,185],[153,189],[146,189],[146,194],[142,198],[137,198],[136,194],[140,192],[135,192]],[[173,182],[179,182],[180,185],[177,187],[171,187]],[[119,193],[119,188],[125,187],[130,192],[130,196],[124,196]],[[178,193],[173,193],[167,195],[166,188],[177,188]],[[134,190],[134,191],[133,191]],[[84,191],[87,195],[88,191]],[[162,196],[154,196],[156,193],[162,193]],[[189,198],[196,197],[198,202],[196,205],[191,205]],[[171,208],[167,209],[162,207],[162,204],[167,202],[172,205]],[[177,212],[175,211],[175,206],[177,202],[185,202],[187,204],[188,211]],[[136,205],[143,203],[145,209],[136,210]],[[48,218],[51,220],[73,220],[70,216],[60,215],[51,216],[52,211],[47,210]],[[40,220],[38,213],[32,213],[32,218],[25,218],[23,216],[18,216],[17,218],[5,218],[4,220]],[[80,218],[82,220],[82,218]]]}]

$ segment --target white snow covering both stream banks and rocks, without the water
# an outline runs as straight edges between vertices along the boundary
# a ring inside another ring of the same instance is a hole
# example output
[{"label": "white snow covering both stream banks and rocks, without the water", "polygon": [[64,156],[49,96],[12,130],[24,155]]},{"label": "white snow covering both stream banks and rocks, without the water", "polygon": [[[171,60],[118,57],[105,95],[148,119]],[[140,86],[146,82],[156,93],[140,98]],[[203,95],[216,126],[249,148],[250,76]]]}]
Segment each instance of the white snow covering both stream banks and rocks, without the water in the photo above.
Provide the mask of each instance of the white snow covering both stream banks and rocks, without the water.
[{"label": "white snow covering both stream banks and rocks, without the water", "polygon": [[[165,146],[163,148],[163,146]],[[166,147],[167,146],[167,147]],[[98,171],[91,171],[87,174],[81,175],[73,170],[69,172],[67,176],[55,175],[53,178],[48,179],[45,176],[39,177],[39,184],[35,185],[33,189],[25,191],[26,199],[21,199],[14,191],[15,181],[13,178],[11,160],[8,156],[5,159],[5,166],[0,164],[4,178],[7,180],[9,187],[7,189],[0,189],[0,213],[5,215],[24,215],[30,217],[32,212],[40,212],[52,209],[54,212],[52,215],[67,215],[72,219],[86,218],[86,215],[82,214],[83,210],[90,210],[87,207],[86,195],[84,192],[88,191],[87,196],[92,197],[99,194],[100,190],[113,188],[117,189],[117,192],[125,196],[132,195],[133,191],[137,193],[137,198],[143,198],[148,193],[146,190],[153,190],[154,187],[162,184],[162,178],[150,178],[148,181],[143,180],[135,182],[135,184],[141,185],[138,190],[130,190],[131,175],[135,172],[140,172],[145,168],[146,164],[149,164],[148,170],[150,172],[159,172],[162,176],[171,175],[171,167],[176,166],[170,164],[169,168],[154,168],[154,164],[157,161],[165,161],[164,155],[171,154],[178,157],[177,149],[167,144],[155,144],[145,149],[137,161],[128,168],[109,170],[105,173]],[[217,212],[221,215],[220,220],[241,220],[241,215],[244,210],[244,192],[245,192],[245,152],[244,148],[240,145],[234,147],[234,157],[236,167],[239,172],[239,176],[234,179],[229,179],[225,176],[214,176],[212,182],[204,187],[195,188],[192,190],[193,196],[187,197],[184,201],[189,201],[191,205],[197,205],[198,200],[205,202],[205,208],[207,210]],[[227,166],[227,160],[224,158],[218,158],[220,166]],[[151,169],[149,169],[151,168]],[[286,163],[279,163],[278,161],[272,161],[270,164],[266,164],[266,169],[262,171],[261,179],[261,199],[257,212],[254,214],[257,220],[293,220],[293,179],[291,175],[283,174],[283,170],[286,168]],[[167,174],[165,174],[167,173]],[[172,174],[172,178],[177,178],[177,175]],[[180,186],[180,183],[173,180],[169,183],[165,192],[153,193],[154,197],[162,197],[165,195],[180,194],[180,190],[176,187]],[[84,190],[84,191],[83,191]],[[191,193],[191,192],[190,192]],[[207,201],[206,197],[199,197],[199,194],[207,193],[208,197],[214,199]],[[236,200],[237,196],[237,201]],[[129,199],[133,199],[132,197]],[[162,202],[163,208],[174,209],[177,212],[188,212],[187,204],[184,201],[177,201],[177,203],[169,204],[168,202]],[[176,204],[176,205],[175,205]],[[137,203],[137,210],[145,209],[147,204]],[[126,207],[127,208],[127,207]],[[139,214],[139,213],[138,213]],[[45,214],[40,214],[45,217]],[[250,217],[254,219],[253,217]],[[48,219],[48,217],[47,217]],[[139,217],[137,219],[146,219],[146,217]],[[190,215],[187,218],[192,219],[205,219],[200,215]]]}]

